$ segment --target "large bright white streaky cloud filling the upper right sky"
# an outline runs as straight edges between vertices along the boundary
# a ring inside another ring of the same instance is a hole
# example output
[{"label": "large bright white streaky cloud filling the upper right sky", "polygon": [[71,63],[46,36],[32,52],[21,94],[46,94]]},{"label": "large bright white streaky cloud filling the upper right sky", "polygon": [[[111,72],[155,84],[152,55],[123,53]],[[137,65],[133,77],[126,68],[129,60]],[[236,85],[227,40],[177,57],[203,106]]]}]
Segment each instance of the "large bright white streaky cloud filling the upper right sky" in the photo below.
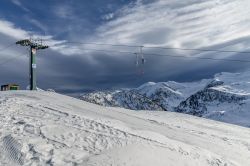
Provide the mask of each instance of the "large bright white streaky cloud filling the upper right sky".
[{"label": "large bright white streaky cloud filling the upper right sky", "polygon": [[249,0],[142,2],[121,9],[92,40],[199,48],[250,36]]}]

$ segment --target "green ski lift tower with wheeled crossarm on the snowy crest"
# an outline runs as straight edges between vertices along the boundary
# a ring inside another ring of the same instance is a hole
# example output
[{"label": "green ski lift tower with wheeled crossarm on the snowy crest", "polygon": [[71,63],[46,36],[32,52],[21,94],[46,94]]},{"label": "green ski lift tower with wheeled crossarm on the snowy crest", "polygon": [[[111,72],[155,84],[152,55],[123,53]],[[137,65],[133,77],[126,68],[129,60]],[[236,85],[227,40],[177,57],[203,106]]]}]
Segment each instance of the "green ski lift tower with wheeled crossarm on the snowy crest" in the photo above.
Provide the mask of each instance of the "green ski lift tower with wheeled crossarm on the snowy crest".
[{"label": "green ski lift tower with wheeled crossarm on the snowy crest", "polygon": [[16,44],[30,48],[30,66],[29,66],[30,90],[37,90],[37,87],[36,87],[36,52],[37,50],[40,50],[40,49],[46,49],[49,46],[43,45],[42,40],[31,40],[31,39],[17,41]]}]

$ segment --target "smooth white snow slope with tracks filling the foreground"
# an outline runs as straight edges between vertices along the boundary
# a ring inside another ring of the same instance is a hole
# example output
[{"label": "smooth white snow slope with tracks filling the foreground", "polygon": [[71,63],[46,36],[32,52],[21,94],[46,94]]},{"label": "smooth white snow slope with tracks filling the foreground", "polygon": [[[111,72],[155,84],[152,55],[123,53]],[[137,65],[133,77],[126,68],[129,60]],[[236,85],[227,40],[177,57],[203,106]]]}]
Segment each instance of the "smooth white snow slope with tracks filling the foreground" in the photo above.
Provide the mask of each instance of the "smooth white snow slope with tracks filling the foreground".
[{"label": "smooth white snow slope with tracks filling the foreground", "polygon": [[250,129],[52,92],[0,93],[0,165],[247,166]]}]

